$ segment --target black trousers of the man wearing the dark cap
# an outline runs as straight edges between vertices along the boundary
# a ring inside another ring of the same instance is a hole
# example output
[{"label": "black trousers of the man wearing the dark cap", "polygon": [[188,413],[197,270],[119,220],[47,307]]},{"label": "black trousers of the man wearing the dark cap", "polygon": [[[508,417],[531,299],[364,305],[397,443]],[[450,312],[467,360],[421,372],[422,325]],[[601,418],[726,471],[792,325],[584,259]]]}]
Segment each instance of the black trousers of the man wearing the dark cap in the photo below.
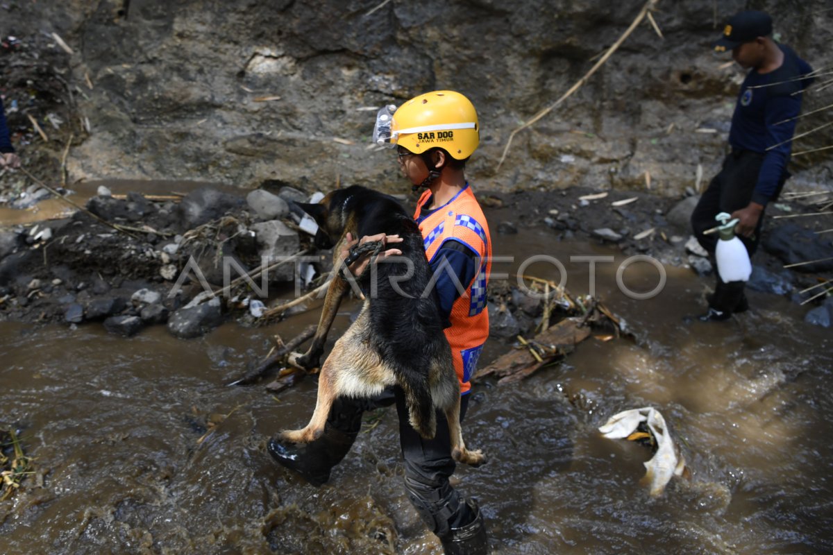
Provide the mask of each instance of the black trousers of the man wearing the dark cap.
[{"label": "black trousers of the man wearing the dark cap", "polygon": [[[715,220],[715,216],[721,212],[731,214],[749,205],[752,194],[755,192],[755,186],[758,183],[758,175],[761,173],[764,156],[760,152],[753,151],[732,151],[726,155],[720,173],[711,180],[691,214],[691,229],[694,230],[694,235],[700,245],[711,255],[712,265],[715,268],[714,255],[719,240],[718,234],[703,235],[703,232],[719,224]],[[788,176],[789,174],[785,171],[785,175],[779,181],[776,198]],[[764,213],[761,212],[755,234],[751,238],[738,235],[738,238],[746,246],[750,257],[755,254],[761,241],[763,223]],[[743,304],[741,299],[744,297],[744,283],[740,281],[725,284],[717,271],[715,271],[715,275],[717,280],[715,295],[711,297],[709,305],[721,311],[728,310],[732,312],[736,310],[737,306]]]}]

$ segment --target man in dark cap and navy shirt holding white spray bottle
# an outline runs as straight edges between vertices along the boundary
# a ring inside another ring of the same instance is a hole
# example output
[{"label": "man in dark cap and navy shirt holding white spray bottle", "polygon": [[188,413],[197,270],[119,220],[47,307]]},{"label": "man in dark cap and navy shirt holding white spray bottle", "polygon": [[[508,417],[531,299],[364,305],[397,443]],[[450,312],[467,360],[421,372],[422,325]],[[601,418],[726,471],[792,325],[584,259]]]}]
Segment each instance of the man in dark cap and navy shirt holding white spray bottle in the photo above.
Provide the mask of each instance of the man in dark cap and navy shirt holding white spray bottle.
[{"label": "man in dark cap and navy shirt holding white spray bottle", "polygon": [[[703,232],[717,225],[715,216],[728,212],[738,218],[736,235],[749,255],[761,239],[767,203],[775,201],[787,177],[792,136],[801,111],[802,91],[812,81],[810,65],[790,47],[771,38],[772,19],[765,12],[746,11],[732,16],[716,52],[731,50],[746,74],[738,94],[729,131],[731,152],[720,173],[711,180],[691,215],[691,227],[714,259],[717,235]],[[717,283],[702,321],[726,320],[749,308],[744,282]]]}]

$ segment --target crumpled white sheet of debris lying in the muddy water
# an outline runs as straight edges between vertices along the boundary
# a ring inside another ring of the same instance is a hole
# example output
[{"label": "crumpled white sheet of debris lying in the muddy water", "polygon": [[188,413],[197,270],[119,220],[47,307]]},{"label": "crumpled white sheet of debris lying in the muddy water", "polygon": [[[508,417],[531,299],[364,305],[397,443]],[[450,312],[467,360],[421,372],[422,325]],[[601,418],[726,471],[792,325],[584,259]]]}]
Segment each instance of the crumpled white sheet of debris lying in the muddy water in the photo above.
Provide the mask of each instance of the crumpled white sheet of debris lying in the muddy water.
[{"label": "crumpled white sheet of debris lying in the muddy water", "polygon": [[653,407],[626,410],[611,416],[599,431],[608,439],[625,439],[636,432],[643,422],[651,430],[656,442],[656,453],[644,463],[647,472],[642,480],[649,486],[651,495],[656,497],[665,490],[671,476],[681,476],[686,469],[686,460],[677,453],[662,414]]}]

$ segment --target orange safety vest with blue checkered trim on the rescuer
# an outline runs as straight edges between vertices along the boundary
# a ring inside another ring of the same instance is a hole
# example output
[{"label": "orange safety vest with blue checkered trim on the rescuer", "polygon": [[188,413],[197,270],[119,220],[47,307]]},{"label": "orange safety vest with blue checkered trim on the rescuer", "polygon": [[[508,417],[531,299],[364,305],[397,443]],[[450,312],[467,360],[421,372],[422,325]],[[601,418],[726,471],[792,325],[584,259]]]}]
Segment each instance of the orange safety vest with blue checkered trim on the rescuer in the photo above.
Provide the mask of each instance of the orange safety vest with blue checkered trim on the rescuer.
[{"label": "orange safety vest with blue checkered trim on the rescuer", "polygon": [[[422,193],[416,203],[414,220],[418,220],[422,207],[431,198],[431,191]],[[483,344],[489,336],[489,311],[486,310],[486,283],[491,273],[491,237],[486,216],[477,203],[471,187],[466,185],[451,201],[437,208],[419,224],[425,254],[434,260],[442,244],[449,239],[460,241],[477,255],[480,265],[471,283],[461,284],[466,294],[451,305],[451,327],[446,328],[446,339],[451,344],[454,369],[460,379],[460,392],[471,389],[471,374],[477,367]],[[458,278],[459,279],[459,278]]]}]

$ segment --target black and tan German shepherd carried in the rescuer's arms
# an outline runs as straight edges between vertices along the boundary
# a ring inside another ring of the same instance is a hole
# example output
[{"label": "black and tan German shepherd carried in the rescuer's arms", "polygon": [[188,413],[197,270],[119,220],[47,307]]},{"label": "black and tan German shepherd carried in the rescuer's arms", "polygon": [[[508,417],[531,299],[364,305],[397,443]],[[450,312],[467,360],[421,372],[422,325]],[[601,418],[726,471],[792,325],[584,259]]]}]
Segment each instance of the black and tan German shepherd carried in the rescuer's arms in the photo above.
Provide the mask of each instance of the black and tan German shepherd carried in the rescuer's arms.
[{"label": "black and tan German shepherd carried in the rescuer's arms", "polygon": [[[436,433],[436,409],[448,420],[451,456],[458,462],[478,466],[486,462],[480,450],[466,449],[460,428],[460,383],[451,360],[451,348],[442,331],[436,293],[426,295],[431,282],[422,235],[416,223],[392,196],[362,186],[338,189],[318,204],[298,206],[315,218],[315,245],[334,245],[332,282],[327,289],[321,319],[312,345],[303,355],[293,354],[292,364],[303,369],[318,366],[327,333],[349,284],[337,271],[345,235],[399,235],[397,248],[411,260],[408,265],[394,258],[370,266],[358,277],[366,294],[355,322],[337,340],[324,361],[318,378],[318,399],[309,424],[303,429],[284,430],[282,438],[308,443],[324,431],[332,402],[339,396],[373,397],[392,385],[405,394],[409,421],[426,439]],[[377,247],[381,247],[377,245]],[[411,266],[409,268],[409,266]],[[368,274],[375,274],[375,291],[367,294]]]}]

